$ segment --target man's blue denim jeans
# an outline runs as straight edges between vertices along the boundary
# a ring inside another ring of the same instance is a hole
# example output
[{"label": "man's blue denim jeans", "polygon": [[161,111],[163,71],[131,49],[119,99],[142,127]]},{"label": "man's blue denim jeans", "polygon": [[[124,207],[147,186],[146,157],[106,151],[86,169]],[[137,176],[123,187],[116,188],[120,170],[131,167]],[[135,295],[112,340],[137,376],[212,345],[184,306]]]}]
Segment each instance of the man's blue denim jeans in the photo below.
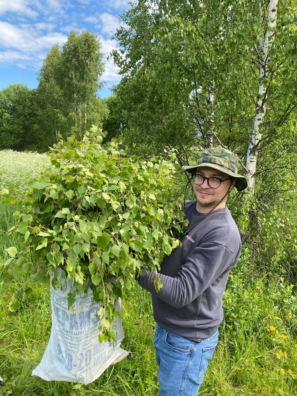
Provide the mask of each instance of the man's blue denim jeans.
[{"label": "man's blue denim jeans", "polygon": [[156,324],[153,343],[158,363],[158,396],[197,396],[218,342],[218,331],[200,343]]}]

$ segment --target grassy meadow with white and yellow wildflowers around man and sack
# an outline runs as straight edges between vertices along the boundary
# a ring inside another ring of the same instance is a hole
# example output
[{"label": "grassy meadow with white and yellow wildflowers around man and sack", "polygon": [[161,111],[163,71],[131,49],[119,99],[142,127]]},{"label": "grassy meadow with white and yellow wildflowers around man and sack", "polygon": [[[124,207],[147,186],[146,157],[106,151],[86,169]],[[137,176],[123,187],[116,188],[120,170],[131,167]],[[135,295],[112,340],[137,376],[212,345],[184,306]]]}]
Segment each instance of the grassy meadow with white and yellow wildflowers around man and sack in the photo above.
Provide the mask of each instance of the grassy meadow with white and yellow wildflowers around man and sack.
[{"label": "grassy meadow with white and yellow wildflowers around man and sack", "polygon": [[[28,182],[48,166],[37,153],[0,151],[0,190],[24,196]],[[7,230],[14,224],[16,206],[0,195],[0,259],[19,242]],[[219,344],[199,395],[295,396],[297,394],[297,293],[281,276],[249,276],[250,252],[243,247],[224,296],[225,320]],[[12,290],[17,290],[15,280]],[[6,301],[11,290],[0,286],[0,395],[71,396],[158,393],[157,365],[152,337],[154,320],[150,297],[137,284],[123,301],[122,347],[130,352],[89,385],[47,382],[31,376],[48,343],[51,329],[49,284],[31,284],[32,292],[16,312]]]}]

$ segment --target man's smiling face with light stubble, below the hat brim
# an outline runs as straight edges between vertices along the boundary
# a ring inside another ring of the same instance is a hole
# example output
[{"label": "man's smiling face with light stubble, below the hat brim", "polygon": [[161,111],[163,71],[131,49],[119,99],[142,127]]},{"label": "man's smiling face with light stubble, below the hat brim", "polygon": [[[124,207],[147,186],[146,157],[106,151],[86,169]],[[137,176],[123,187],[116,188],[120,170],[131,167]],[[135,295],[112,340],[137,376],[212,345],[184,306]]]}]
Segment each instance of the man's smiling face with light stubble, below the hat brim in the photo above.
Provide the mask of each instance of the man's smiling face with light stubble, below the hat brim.
[{"label": "man's smiling face with light stubble, below the hat brim", "polygon": [[[197,168],[196,174],[202,175],[204,177],[218,177],[220,180],[228,179],[230,176],[226,173],[220,172],[217,169],[208,168],[207,166]],[[236,183],[236,179],[233,180],[230,187],[231,179],[223,181],[218,188],[211,188],[208,185],[208,181],[204,180],[203,184],[198,186],[193,184],[193,191],[196,197],[196,209],[200,213],[208,213],[212,208],[214,208],[223,196],[226,194],[227,190],[231,190]],[[225,208],[227,201],[227,196],[223,201],[214,209]]]}]

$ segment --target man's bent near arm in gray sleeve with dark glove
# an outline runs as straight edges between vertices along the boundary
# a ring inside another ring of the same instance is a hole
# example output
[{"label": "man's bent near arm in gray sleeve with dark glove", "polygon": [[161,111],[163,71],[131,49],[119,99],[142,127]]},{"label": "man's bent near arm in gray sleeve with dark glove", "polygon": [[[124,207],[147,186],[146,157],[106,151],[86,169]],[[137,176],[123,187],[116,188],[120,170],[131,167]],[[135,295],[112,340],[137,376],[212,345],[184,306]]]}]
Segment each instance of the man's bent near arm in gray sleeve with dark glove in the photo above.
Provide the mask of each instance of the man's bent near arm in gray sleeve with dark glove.
[{"label": "man's bent near arm in gray sleeve with dark glove", "polygon": [[234,255],[223,245],[202,243],[190,252],[175,277],[159,274],[162,288],[158,292],[152,282],[154,272],[147,273],[145,267],[142,268],[138,283],[172,307],[181,308],[202,294],[223,272],[230,270],[234,263]]}]

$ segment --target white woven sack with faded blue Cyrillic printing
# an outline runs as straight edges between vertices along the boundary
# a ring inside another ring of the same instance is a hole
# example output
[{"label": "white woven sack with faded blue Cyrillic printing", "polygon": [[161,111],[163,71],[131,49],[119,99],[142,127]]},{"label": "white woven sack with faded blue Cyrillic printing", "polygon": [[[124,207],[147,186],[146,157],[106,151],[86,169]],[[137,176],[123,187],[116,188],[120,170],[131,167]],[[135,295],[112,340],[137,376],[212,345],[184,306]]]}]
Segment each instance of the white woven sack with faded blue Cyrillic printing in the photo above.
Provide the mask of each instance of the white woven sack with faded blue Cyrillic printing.
[{"label": "white woven sack with faded blue Cyrillic printing", "polygon": [[[76,295],[74,314],[67,307],[67,294],[71,291],[71,279],[55,290],[51,286],[51,335],[40,364],[32,371],[46,381],[70,381],[89,384],[97,379],[110,364],[125,358],[129,352],[120,348],[124,338],[122,320],[115,320],[114,344],[99,343],[100,305],[95,303],[91,288],[88,294]],[[121,301],[116,302],[121,312]]]}]

